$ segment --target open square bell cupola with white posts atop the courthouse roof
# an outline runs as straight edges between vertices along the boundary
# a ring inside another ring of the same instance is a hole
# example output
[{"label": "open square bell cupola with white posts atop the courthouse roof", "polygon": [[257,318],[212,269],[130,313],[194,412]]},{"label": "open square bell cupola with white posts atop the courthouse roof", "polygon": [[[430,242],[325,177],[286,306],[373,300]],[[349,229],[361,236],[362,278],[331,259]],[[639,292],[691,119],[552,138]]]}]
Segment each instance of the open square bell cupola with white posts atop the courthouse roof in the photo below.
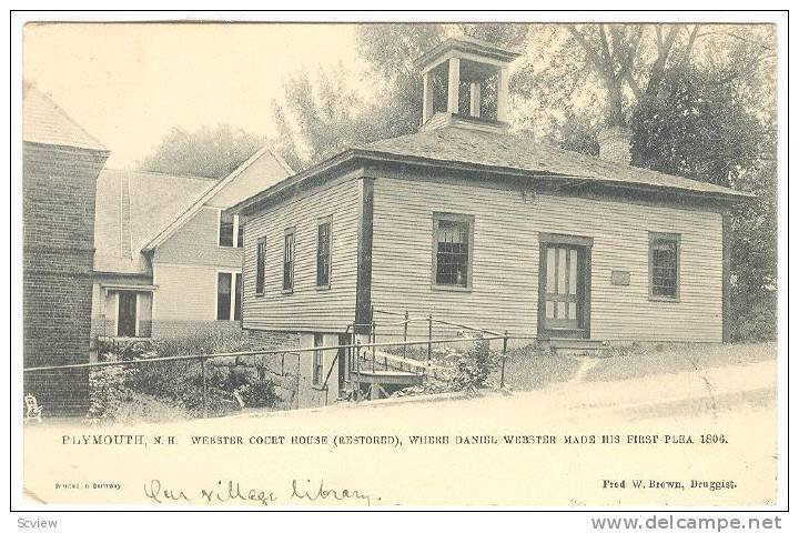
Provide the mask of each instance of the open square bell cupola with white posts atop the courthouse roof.
[{"label": "open square bell cupola with white posts atop the courthouse roof", "polygon": [[448,38],[416,60],[424,81],[421,130],[508,128],[508,66],[519,53],[469,38]]}]

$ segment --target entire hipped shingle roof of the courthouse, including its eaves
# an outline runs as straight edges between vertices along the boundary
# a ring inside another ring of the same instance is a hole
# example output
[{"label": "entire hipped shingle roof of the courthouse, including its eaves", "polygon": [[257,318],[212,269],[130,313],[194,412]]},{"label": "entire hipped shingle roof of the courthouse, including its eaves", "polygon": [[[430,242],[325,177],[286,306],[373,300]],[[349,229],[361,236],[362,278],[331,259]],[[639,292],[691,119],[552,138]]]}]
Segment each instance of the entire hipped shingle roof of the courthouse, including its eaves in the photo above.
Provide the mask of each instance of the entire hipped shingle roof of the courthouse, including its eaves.
[{"label": "entire hipped shingle roof of the courthouse, including its eaves", "polygon": [[745,200],[755,197],[751,193],[727,187],[536,143],[523,135],[451,125],[345,150],[240,202],[232,210],[250,211],[274,193],[354,160],[478,170],[489,175],[509,174],[530,180],[542,178],[564,179],[570,182],[577,180],[627,189],[700,194],[722,200]]}]

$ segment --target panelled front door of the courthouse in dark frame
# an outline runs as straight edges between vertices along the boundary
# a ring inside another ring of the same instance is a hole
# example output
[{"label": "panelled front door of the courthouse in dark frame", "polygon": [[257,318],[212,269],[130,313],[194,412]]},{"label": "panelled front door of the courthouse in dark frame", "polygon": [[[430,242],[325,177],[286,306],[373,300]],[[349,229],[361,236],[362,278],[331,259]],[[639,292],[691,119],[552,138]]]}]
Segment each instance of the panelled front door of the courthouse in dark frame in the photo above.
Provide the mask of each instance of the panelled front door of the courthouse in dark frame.
[{"label": "panelled front door of the courthouse in dark frame", "polygon": [[540,247],[539,336],[587,339],[589,249],[558,242],[543,242]]}]

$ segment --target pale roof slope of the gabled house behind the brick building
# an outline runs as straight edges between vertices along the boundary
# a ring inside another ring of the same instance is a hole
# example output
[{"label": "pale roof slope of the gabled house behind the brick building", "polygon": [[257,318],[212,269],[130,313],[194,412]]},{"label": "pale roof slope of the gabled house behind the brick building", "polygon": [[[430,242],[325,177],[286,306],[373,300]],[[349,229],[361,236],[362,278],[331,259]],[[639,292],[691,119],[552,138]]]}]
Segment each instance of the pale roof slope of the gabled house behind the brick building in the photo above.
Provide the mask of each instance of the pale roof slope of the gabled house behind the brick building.
[{"label": "pale roof slope of the gabled house behind the brick building", "polygon": [[159,172],[101,171],[94,211],[94,271],[149,273],[142,248],[216,182]]}]

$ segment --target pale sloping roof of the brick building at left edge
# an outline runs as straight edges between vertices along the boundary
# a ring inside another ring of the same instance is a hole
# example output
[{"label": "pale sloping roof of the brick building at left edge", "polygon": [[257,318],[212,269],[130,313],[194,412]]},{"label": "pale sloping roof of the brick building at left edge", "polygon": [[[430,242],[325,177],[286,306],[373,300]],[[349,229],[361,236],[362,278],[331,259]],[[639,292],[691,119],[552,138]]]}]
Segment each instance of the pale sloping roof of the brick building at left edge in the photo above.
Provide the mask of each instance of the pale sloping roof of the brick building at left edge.
[{"label": "pale sloping roof of the brick building at left edge", "polygon": [[108,152],[48,94],[30,83],[22,88],[22,140]]}]

